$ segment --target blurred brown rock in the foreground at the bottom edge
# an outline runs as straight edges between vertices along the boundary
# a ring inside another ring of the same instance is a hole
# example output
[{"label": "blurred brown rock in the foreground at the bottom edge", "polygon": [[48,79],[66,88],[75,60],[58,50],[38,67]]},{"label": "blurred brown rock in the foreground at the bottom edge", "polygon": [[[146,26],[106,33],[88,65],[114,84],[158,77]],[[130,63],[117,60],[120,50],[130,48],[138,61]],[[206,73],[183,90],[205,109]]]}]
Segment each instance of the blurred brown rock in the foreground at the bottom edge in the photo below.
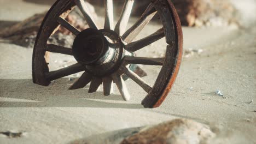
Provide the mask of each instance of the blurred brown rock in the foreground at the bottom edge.
[{"label": "blurred brown rock in the foreground at the bottom edge", "polygon": [[189,119],[174,119],[147,127],[121,143],[208,143],[215,134],[207,125]]}]

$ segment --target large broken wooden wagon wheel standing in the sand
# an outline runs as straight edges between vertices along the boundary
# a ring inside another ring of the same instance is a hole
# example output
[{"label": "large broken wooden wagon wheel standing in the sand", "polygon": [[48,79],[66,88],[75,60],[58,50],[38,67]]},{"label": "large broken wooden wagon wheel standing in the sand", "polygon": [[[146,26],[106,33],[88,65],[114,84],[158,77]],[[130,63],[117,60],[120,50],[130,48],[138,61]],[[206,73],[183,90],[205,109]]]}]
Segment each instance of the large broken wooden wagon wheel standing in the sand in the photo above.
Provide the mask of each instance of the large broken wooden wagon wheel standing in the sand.
[{"label": "large broken wooden wagon wheel standing in the sand", "polygon": [[[126,30],[133,2],[134,0],[125,0],[117,25],[114,25],[113,1],[105,0],[104,28],[100,29],[91,11],[86,8],[84,0],[57,0],[46,14],[34,45],[33,82],[48,86],[53,80],[84,71],[69,89],[83,88],[91,82],[89,88],[91,93],[96,92],[103,83],[104,95],[109,95],[114,82],[124,100],[129,100],[130,94],[124,81],[126,76],[148,93],[142,100],[144,107],[160,106],[170,91],[181,64],[183,45],[181,23],[170,0],[152,0],[137,22]],[[74,7],[79,8],[90,28],[79,31],[65,20]],[[159,15],[162,28],[148,37],[134,41],[133,39],[155,14]],[[51,34],[60,25],[76,35],[73,47],[67,48],[47,43]],[[133,52],[163,37],[167,45],[165,57],[149,58],[133,55]],[[45,60],[46,52],[72,55],[77,63],[63,69],[49,71]],[[136,74],[136,71],[133,71],[131,67],[134,67],[134,64],[162,65],[153,86],[149,86]]]}]

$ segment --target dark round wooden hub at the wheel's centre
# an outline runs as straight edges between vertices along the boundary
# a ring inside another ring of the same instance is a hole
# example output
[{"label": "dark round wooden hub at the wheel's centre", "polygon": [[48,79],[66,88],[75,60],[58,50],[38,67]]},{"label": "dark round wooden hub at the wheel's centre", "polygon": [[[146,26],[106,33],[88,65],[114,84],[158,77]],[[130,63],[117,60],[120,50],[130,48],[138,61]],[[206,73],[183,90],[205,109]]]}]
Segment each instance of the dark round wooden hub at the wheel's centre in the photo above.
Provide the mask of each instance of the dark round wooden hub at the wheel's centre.
[{"label": "dark round wooden hub at the wheel's centre", "polygon": [[114,31],[88,28],[77,35],[72,51],[74,58],[85,65],[86,72],[103,77],[119,68],[123,48],[121,38]]}]

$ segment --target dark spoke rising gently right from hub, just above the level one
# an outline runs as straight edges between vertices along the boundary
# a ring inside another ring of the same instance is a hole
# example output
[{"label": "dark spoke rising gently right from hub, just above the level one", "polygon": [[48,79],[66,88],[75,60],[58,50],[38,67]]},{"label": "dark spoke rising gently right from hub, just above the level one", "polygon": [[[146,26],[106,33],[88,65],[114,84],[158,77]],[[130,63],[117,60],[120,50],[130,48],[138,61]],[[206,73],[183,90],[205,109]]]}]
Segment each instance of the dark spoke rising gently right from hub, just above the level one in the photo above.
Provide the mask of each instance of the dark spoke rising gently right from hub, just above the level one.
[{"label": "dark spoke rising gently right from hub, just above the level one", "polygon": [[125,50],[130,51],[130,52],[135,52],[135,51],[140,50],[140,49],[142,49],[143,47],[145,47],[149,44],[154,43],[155,41],[157,41],[157,40],[159,40],[163,37],[165,37],[164,28],[160,28],[160,29],[158,29],[158,31],[149,35],[146,38],[143,38],[141,40],[137,40],[137,41],[134,41],[130,44],[127,44],[125,46]]}]

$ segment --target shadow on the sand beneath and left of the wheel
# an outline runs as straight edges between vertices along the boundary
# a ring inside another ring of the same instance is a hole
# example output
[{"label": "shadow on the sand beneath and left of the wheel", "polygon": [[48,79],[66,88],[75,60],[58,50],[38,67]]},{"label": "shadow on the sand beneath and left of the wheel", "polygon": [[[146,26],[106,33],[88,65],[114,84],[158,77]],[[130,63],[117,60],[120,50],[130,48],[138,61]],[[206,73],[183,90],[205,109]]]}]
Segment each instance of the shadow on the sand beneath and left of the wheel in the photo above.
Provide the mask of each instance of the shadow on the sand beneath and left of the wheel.
[{"label": "shadow on the sand beneath and left of the wheel", "polygon": [[131,104],[121,95],[104,96],[103,92],[88,93],[89,87],[68,90],[73,81],[59,79],[48,87],[31,79],[0,79],[0,107],[109,107],[142,109],[140,103]]}]

